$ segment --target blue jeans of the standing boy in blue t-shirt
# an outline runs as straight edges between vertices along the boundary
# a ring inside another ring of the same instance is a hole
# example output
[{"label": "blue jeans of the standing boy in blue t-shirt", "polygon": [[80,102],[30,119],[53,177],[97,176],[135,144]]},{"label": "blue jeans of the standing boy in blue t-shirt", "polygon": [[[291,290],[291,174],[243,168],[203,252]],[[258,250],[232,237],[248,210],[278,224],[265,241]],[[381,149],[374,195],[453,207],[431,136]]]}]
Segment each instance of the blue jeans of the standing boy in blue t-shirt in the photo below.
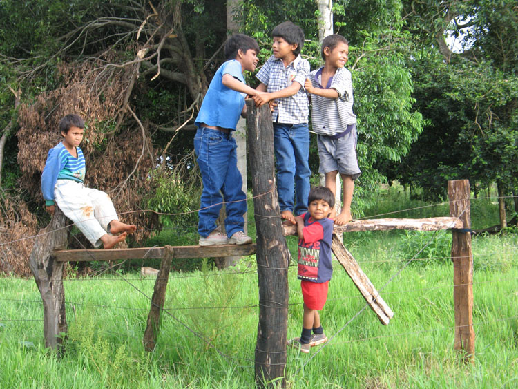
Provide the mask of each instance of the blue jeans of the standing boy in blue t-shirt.
[{"label": "blue jeans of the standing boy in blue t-shirt", "polygon": [[[198,234],[207,236],[217,227],[222,201],[226,202],[225,229],[231,237],[244,229],[243,215],[247,212],[247,196],[242,191],[238,170],[236,140],[231,133],[198,127],[194,151],[202,173],[203,191],[198,216]],[[221,193],[223,196],[221,196]]]}]

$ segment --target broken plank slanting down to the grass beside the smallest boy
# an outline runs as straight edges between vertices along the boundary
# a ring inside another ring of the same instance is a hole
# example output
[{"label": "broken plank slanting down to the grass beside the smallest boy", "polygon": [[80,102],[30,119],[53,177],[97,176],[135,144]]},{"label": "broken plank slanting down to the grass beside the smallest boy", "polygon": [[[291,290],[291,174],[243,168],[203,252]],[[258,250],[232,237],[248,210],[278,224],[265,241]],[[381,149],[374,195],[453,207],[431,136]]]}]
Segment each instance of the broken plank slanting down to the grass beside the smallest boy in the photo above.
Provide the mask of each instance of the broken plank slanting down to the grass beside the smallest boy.
[{"label": "broken plank slanting down to the grass beside the smallest boy", "polygon": [[372,285],[369,278],[367,278],[352,254],[349,253],[343,243],[340,242],[336,234],[333,234],[331,249],[340,265],[342,265],[363,298],[365,298],[365,301],[367,301],[374,313],[378,315],[381,323],[387,325],[390,319],[392,319],[392,316],[394,316],[394,312],[392,312],[387,303],[383,301],[383,298],[378,294],[374,285]]}]

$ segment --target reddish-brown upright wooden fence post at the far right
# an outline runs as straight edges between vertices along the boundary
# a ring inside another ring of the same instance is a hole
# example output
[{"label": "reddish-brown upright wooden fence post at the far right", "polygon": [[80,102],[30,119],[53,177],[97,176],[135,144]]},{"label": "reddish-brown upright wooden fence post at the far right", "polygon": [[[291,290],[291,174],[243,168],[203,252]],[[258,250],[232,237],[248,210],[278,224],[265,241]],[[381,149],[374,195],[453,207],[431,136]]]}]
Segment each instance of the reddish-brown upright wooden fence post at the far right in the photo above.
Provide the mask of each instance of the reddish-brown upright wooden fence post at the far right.
[{"label": "reddish-brown upright wooden fence post at the far right", "polygon": [[474,358],[473,328],[473,255],[471,252],[470,182],[448,181],[450,216],[463,222],[452,229],[453,301],[455,309],[454,349],[463,352],[464,361]]}]

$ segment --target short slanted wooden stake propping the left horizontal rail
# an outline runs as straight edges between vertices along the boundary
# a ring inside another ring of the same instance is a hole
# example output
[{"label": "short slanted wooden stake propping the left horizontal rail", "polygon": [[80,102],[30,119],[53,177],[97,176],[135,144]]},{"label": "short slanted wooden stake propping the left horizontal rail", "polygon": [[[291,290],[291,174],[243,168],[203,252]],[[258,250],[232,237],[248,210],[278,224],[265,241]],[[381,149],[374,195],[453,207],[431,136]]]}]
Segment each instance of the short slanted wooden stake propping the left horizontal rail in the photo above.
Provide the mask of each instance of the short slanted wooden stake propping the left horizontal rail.
[{"label": "short slanted wooden stake propping the left horizontal rail", "polygon": [[160,321],[162,318],[162,309],[166,301],[167,281],[169,281],[169,272],[171,272],[171,260],[174,256],[174,249],[171,246],[164,247],[164,258],[160,263],[157,281],[155,281],[155,289],[153,297],[151,297],[151,310],[148,314],[148,322],[144,331],[144,349],[146,351],[155,350],[158,332],[160,332]]}]

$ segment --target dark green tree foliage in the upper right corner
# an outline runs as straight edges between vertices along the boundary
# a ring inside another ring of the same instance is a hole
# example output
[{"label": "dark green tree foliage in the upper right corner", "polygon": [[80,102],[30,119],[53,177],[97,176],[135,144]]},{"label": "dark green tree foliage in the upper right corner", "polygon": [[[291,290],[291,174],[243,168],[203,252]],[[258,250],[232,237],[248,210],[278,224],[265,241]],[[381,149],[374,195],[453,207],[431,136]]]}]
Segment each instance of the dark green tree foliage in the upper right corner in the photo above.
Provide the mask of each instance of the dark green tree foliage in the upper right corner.
[{"label": "dark green tree foliage in the upper right corner", "polygon": [[[391,178],[445,196],[445,181],[516,191],[518,12],[513,1],[405,1],[416,107],[426,125]],[[465,50],[445,44],[445,31]]]}]

